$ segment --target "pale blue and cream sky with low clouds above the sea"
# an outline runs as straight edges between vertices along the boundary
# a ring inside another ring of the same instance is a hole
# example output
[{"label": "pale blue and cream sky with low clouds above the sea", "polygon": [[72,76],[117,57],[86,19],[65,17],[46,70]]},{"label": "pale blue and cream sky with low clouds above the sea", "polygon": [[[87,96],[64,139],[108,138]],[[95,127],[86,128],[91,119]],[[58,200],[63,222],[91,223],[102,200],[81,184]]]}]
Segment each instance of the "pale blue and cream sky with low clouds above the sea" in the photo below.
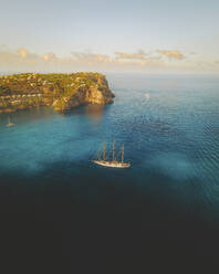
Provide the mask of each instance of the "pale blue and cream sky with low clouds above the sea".
[{"label": "pale blue and cream sky with low clouds above the sea", "polygon": [[218,0],[0,0],[0,72],[219,74]]}]

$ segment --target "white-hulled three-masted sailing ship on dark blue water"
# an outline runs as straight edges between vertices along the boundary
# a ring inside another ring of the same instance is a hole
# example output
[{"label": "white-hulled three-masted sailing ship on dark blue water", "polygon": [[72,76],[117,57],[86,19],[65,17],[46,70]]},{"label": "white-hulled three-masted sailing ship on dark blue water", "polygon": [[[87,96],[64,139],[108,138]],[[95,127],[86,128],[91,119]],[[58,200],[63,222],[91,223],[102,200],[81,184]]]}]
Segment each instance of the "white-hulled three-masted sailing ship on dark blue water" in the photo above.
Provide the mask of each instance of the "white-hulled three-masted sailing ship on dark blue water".
[{"label": "white-hulled three-masted sailing ship on dark blue water", "polygon": [[96,152],[96,156],[92,161],[96,165],[101,165],[109,168],[131,167],[129,162],[124,162],[124,144],[121,150],[118,151],[117,156],[119,157],[119,155],[121,155],[121,160],[118,160],[115,155],[115,140],[113,141],[112,157],[111,157],[111,150],[108,152],[106,151],[106,143],[104,141],[103,149],[101,147],[101,149]]}]

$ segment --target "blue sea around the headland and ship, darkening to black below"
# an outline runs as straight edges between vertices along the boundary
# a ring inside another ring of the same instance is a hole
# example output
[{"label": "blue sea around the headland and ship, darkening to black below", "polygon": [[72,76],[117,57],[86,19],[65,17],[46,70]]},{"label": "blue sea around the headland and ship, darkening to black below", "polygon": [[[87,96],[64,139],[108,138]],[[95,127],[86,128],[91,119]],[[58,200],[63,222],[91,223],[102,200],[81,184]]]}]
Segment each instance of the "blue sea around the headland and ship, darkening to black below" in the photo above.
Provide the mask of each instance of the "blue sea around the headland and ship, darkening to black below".
[{"label": "blue sea around the headland and ship, darkening to black below", "polygon": [[[73,273],[79,257],[217,261],[219,77],[106,76],[112,105],[0,115],[6,257],[30,273]],[[91,161],[113,139],[129,169]]]}]

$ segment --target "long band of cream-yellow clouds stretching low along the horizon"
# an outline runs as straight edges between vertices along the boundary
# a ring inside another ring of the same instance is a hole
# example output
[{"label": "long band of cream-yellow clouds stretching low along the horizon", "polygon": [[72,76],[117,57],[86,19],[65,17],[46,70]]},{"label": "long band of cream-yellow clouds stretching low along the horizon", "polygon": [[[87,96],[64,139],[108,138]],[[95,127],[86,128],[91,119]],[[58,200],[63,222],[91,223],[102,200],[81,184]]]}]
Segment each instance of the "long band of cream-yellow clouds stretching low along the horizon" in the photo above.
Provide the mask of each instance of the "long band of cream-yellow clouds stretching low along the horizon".
[{"label": "long band of cream-yellow clouds stretching low along the horizon", "polygon": [[[187,57],[186,57],[187,56]],[[38,54],[25,48],[11,50],[0,45],[0,72],[167,72],[167,71],[218,71],[219,60],[194,60],[180,51],[115,52],[114,54],[72,52],[58,56],[54,52]],[[180,62],[186,59],[185,62]],[[167,62],[173,60],[175,62]],[[208,61],[208,62],[207,62]]]}]

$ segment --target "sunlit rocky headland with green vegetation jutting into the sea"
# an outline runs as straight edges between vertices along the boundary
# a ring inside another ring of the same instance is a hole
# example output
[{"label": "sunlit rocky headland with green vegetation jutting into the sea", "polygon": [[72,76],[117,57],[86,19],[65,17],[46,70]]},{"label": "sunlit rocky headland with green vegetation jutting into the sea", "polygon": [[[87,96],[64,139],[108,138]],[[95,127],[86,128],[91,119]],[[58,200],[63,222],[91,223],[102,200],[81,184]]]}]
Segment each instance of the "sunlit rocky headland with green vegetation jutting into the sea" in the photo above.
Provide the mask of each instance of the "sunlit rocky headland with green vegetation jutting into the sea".
[{"label": "sunlit rocky headland with green vegetation jutting into the sea", "polygon": [[113,97],[100,73],[0,76],[0,113],[35,106],[52,106],[62,112],[86,104],[111,104]]}]

